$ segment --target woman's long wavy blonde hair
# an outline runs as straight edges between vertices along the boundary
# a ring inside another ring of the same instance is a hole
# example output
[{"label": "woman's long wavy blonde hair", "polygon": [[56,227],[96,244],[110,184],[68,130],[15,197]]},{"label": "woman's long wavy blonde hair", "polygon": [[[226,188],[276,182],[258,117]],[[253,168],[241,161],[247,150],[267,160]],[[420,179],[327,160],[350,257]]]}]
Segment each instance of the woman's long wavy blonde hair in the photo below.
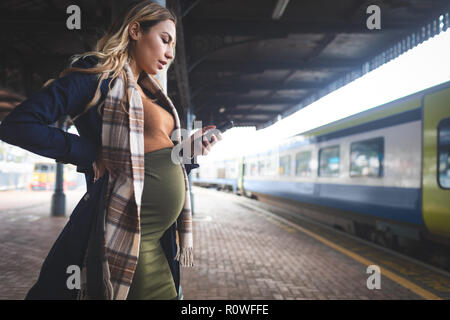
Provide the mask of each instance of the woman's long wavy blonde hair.
[{"label": "woman's long wavy blonde hair", "polygon": [[[120,74],[123,75],[123,79],[126,81],[126,74],[123,68],[125,62],[129,61],[129,45],[130,37],[128,34],[128,29],[131,23],[137,22],[143,33],[146,33],[155,24],[165,21],[172,20],[175,25],[177,23],[176,16],[169,9],[154,3],[152,1],[140,1],[132,3],[128,8],[115,20],[115,22],[109,27],[108,31],[98,40],[95,49],[93,51],[88,51],[83,54],[74,55],[71,57],[70,66],[63,70],[59,77],[63,77],[71,72],[82,72],[88,74],[97,74],[98,84],[95,91],[94,97],[87,104],[86,109],[74,117],[72,121],[75,121],[78,117],[86,113],[91,107],[98,103],[101,97],[100,85],[104,79],[111,77],[108,88],[111,90],[111,83]],[[98,58],[98,63],[89,69],[72,67],[72,65],[81,58],[86,56],[96,56]],[[173,56],[175,59],[175,39],[173,42]],[[168,68],[172,64],[173,60],[170,61]],[[111,75],[112,74],[112,75]],[[151,75],[161,86],[159,81]],[[137,81],[138,79],[136,79]],[[45,83],[44,86],[49,85],[53,82],[51,79]],[[125,87],[126,87],[125,83]],[[162,87],[162,86],[161,86]],[[127,97],[128,99],[128,97]],[[124,101],[122,101],[122,108],[127,112]],[[98,106],[98,113],[101,114],[101,106]],[[128,112],[127,112],[128,113]]]}]

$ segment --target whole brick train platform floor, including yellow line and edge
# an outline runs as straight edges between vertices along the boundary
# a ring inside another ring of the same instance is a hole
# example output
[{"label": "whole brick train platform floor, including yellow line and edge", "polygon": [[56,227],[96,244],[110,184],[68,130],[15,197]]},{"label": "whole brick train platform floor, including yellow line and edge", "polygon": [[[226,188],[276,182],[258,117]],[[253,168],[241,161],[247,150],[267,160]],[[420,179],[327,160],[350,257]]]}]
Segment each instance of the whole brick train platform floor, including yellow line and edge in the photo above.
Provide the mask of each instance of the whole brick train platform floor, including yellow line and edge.
[{"label": "whole brick train platform floor, including yellow line and edge", "polygon": [[[450,276],[439,269],[260,201],[193,192],[195,266],[181,270],[185,300],[450,299]],[[9,199],[0,202],[0,299],[25,297],[84,192],[66,193],[66,217],[49,216],[50,192],[28,193],[0,194]]]}]

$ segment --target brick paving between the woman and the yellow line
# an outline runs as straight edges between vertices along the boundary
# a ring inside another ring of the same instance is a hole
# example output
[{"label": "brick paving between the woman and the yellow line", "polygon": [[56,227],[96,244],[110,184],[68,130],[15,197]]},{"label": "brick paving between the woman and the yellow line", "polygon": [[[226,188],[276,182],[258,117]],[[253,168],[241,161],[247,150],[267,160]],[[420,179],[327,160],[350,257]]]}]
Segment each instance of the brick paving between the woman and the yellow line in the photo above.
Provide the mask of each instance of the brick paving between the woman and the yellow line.
[{"label": "brick paving between the woman and the yellow line", "polygon": [[194,188],[193,268],[182,268],[185,299],[422,299],[367,266],[238,205],[236,196]]}]

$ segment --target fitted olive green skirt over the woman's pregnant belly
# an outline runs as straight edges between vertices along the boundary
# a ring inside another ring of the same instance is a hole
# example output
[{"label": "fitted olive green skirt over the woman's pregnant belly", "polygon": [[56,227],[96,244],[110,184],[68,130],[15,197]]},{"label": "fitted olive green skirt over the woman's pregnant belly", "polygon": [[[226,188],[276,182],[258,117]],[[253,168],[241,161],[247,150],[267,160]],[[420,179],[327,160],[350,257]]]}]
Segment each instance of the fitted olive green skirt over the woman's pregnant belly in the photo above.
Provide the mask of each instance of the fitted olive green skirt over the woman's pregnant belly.
[{"label": "fitted olive green skirt over the woman's pregnant belly", "polygon": [[171,300],[177,297],[172,273],[160,239],[175,222],[185,199],[181,164],[170,157],[172,148],[145,153],[141,202],[141,242],[138,264],[127,300]]}]

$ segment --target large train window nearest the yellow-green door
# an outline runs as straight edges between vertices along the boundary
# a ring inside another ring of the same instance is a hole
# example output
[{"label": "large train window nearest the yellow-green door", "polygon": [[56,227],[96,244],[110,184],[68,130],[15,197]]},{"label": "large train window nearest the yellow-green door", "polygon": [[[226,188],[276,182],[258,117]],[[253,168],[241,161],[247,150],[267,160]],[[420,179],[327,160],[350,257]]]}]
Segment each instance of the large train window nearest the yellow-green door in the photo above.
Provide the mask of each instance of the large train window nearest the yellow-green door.
[{"label": "large train window nearest the yellow-green door", "polygon": [[353,142],[350,147],[350,177],[382,177],[384,138]]}]

